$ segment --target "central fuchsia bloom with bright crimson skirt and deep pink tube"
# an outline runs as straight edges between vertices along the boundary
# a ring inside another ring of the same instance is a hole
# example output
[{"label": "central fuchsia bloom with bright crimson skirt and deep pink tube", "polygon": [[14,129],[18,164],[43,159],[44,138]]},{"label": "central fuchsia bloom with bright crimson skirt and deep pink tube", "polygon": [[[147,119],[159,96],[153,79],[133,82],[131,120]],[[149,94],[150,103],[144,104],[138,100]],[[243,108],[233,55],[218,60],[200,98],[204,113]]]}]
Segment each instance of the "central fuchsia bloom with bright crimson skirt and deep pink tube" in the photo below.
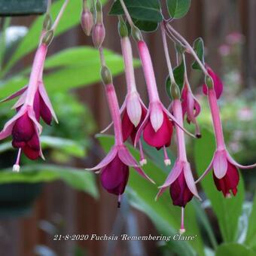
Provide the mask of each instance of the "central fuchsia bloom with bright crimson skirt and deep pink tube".
[{"label": "central fuchsia bloom with bright crimson skirt and deep pink tube", "polygon": [[166,147],[169,147],[172,139],[172,121],[175,123],[177,121],[160,102],[151,56],[145,41],[138,41],[138,48],[148,88],[149,107],[145,120],[136,134],[135,145],[143,133],[143,138],[148,145],[157,149],[163,148],[165,163],[169,165],[170,160],[166,154]]}]

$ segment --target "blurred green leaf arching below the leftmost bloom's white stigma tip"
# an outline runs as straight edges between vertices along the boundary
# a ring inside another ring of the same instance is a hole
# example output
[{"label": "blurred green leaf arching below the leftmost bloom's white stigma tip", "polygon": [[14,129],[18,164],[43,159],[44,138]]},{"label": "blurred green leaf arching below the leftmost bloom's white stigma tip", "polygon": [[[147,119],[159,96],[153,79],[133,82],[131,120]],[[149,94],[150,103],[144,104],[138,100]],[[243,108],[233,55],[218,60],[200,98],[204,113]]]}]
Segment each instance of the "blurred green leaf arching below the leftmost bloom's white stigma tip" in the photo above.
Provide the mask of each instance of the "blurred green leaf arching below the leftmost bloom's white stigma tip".
[{"label": "blurred green leaf arching below the leftmost bloom's white stigma tip", "polygon": [[84,171],[84,169],[37,164],[22,166],[20,172],[12,172],[11,169],[4,169],[0,172],[0,184],[17,182],[37,183],[56,180],[62,180],[69,184],[69,186],[84,191],[92,197],[98,197],[95,175]]}]

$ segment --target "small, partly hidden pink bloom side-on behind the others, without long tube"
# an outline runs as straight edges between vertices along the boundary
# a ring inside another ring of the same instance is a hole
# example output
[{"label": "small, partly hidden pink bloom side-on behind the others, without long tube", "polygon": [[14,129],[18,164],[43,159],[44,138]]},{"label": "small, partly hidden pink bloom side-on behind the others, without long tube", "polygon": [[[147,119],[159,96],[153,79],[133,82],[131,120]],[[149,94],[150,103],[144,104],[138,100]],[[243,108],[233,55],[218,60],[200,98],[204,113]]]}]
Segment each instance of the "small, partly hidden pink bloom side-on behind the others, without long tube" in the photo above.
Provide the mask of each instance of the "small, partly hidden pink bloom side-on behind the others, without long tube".
[{"label": "small, partly hidden pink bloom side-on behind the others, without long tube", "polygon": [[197,116],[200,114],[201,107],[194,94],[190,89],[190,85],[185,83],[181,92],[181,106],[183,117],[187,114],[187,123],[194,123],[196,126],[196,136],[201,137],[200,127],[197,123]]}]

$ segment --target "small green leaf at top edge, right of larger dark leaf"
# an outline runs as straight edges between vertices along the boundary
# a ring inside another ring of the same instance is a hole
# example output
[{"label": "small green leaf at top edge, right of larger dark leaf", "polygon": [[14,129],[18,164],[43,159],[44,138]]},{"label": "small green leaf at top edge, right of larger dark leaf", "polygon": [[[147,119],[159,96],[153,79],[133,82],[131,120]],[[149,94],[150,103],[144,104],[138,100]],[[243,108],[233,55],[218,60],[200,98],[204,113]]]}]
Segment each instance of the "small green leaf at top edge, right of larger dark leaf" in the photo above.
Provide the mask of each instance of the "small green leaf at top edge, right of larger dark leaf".
[{"label": "small green leaf at top edge, right of larger dark leaf", "polygon": [[180,19],[187,14],[191,0],[166,0],[169,14],[174,19]]}]

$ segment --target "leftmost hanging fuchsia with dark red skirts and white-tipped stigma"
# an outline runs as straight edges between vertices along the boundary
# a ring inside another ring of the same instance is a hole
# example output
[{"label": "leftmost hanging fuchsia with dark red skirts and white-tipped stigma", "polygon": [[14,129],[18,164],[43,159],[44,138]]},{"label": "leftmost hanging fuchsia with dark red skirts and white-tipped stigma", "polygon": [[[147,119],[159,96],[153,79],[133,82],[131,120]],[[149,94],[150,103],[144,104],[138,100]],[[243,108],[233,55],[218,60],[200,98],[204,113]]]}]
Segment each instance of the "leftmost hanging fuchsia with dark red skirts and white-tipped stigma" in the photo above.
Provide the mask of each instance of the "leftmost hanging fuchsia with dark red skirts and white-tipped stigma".
[{"label": "leftmost hanging fuchsia with dark red skirts and white-tipped stigma", "polygon": [[17,110],[17,114],[5,124],[0,133],[0,139],[12,136],[12,145],[14,148],[19,148],[17,163],[14,165],[14,170],[16,171],[20,169],[21,151],[31,160],[35,160],[39,156],[44,159],[39,140],[42,130],[39,119],[41,117],[49,125],[52,117],[56,120],[50,99],[41,81],[46,53],[47,45],[41,44],[35,53],[29,85],[2,100],[2,102],[5,102],[20,96],[20,99],[13,107]]}]

